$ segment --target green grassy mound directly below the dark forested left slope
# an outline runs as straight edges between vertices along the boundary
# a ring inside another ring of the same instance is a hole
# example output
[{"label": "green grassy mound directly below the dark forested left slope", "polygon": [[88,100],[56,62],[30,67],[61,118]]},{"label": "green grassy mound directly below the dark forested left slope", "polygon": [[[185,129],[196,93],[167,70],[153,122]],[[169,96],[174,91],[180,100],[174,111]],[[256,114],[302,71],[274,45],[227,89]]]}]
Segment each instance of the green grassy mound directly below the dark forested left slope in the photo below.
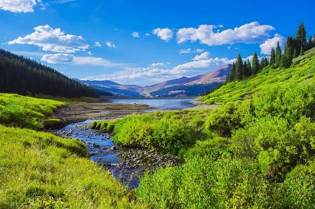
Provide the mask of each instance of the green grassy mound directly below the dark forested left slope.
[{"label": "green grassy mound directly below the dark forested left slope", "polygon": [[0,124],[30,129],[42,129],[60,120],[49,116],[66,105],[64,102],[0,93]]}]

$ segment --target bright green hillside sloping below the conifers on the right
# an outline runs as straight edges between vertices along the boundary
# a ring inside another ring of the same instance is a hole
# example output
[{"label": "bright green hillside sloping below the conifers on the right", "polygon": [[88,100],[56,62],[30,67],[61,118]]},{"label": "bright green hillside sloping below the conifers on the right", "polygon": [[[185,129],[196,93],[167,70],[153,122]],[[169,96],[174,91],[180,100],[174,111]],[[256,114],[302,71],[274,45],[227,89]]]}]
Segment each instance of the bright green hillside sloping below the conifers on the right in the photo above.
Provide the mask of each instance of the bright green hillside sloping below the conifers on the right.
[{"label": "bright green hillside sloping below the conifers on the right", "polygon": [[266,67],[257,75],[244,78],[241,81],[227,83],[213,93],[201,97],[200,100],[207,104],[222,104],[251,98],[254,92],[273,85],[312,80],[315,75],[314,54],[315,48],[305,52],[303,56],[293,59],[294,64],[290,68],[272,69]]}]

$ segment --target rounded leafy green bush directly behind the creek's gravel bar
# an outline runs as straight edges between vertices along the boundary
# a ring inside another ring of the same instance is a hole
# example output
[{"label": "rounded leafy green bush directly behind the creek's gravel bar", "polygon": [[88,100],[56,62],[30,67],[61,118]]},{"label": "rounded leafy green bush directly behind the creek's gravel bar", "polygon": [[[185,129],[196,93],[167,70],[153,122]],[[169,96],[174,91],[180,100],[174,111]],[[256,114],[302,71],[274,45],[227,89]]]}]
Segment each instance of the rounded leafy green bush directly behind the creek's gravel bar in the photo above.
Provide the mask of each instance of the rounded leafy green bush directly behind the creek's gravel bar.
[{"label": "rounded leafy green bush directly behind the creek's gravel bar", "polygon": [[187,125],[174,118],[152,115],[127,116],[115,127],[114,142],[131,147],[178,153],[193,144]]}]

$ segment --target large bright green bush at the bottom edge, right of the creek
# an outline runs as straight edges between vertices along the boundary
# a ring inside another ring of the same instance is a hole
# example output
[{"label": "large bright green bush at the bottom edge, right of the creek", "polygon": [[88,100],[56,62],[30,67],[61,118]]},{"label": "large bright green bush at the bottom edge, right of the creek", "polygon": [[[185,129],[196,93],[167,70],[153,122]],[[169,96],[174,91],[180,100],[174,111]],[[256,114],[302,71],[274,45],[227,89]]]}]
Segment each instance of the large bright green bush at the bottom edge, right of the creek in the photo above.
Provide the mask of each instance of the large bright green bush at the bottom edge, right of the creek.
[{"label": "large bright green bush at the bottom edge, right of the creek", "polygon": [[272,187],[254,163],[222,154],[195,156],[182,167],[146,174],[136,189],[152,208],[267,208]]}]

